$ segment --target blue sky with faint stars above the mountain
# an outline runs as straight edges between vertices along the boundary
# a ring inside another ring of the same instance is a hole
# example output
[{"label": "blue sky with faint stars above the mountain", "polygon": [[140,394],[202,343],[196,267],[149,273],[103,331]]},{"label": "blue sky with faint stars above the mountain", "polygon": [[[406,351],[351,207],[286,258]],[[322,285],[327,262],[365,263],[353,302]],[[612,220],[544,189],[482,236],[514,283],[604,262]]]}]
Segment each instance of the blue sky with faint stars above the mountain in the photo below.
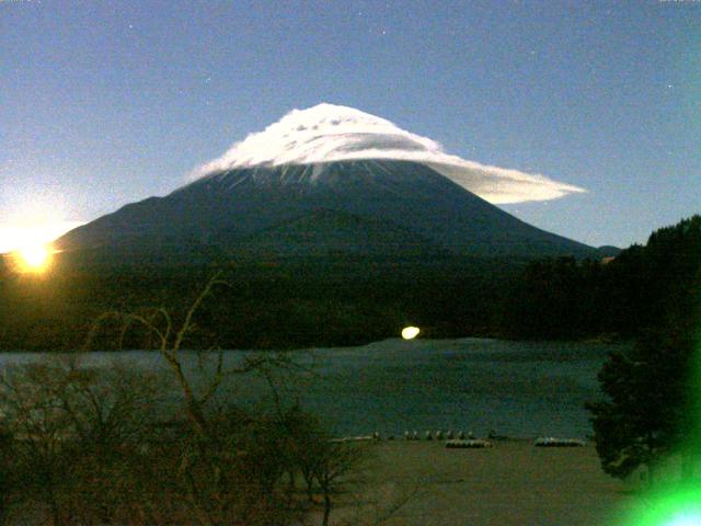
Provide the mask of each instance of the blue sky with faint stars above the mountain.
[{"label": "blue sky with faint stars above the mountain", "polygon": [[2,0],[0,49],[0,251],[320,102],[586,188],[501,206],[590,244],[701,211],[700,2]]}]

